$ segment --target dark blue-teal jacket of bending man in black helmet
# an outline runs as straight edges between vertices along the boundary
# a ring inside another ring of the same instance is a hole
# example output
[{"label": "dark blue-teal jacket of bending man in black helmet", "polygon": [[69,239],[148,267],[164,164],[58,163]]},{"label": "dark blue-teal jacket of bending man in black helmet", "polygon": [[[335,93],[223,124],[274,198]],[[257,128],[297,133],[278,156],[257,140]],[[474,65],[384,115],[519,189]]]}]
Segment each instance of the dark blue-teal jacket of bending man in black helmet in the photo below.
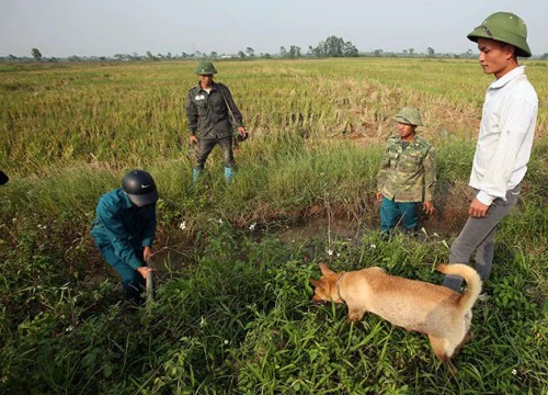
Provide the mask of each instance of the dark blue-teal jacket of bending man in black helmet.
[{"label": "dark blue-teal jacket of bending man in black helmet", "polygon": [[132,268],[142,266],[136,251],[151,247],[156,232],[156,204],[137,207],[122,188],[99,200],[91,235],[99,248],[112,245],[114,253]]}]

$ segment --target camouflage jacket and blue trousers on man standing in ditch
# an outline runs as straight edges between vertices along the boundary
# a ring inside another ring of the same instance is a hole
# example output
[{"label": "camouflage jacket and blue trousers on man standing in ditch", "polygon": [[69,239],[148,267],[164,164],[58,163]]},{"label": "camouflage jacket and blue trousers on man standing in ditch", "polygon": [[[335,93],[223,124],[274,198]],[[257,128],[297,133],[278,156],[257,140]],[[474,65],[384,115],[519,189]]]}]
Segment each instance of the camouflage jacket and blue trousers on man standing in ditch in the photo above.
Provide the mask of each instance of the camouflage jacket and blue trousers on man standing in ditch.
[{"label": "camouflage jacket and blue trousers on man standing in ditch", "polygon": [[381,230],[396,226],[398,214],[403,214],[406,229],[414,229],[416,203],[431,201],[433,196],[436,181],[434,147],[418,135],[406,148],[403,146],[400,136],[388,137],[377,174],[377,191],[384,195]]}]

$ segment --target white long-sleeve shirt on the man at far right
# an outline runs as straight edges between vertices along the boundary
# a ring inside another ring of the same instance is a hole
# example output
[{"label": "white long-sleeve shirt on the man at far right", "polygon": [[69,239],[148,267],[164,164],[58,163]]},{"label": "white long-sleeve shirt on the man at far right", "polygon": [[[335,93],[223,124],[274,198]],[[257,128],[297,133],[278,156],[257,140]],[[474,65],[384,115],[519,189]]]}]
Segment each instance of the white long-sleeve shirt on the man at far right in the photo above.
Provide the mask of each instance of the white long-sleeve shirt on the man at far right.
[{"label": "white long-sleeve shirt on the man at far right", "polygon": [[516,67],[488,88],[469,183],[480,191],[476,198],[481,203],[505,200],[506,191],[522,182],[537,113],[537,93],[525,76],[525,66]]}]

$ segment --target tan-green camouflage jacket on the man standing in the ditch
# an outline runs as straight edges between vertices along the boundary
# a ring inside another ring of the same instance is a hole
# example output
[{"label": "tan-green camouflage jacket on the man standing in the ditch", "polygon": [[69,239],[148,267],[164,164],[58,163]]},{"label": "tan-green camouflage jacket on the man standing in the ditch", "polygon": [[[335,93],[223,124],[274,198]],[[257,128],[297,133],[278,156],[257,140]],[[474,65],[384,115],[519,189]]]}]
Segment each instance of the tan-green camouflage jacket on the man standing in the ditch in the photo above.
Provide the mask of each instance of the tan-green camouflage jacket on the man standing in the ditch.
[{"label": "tan-green camouflage jacket on the man standing in the ditch", "polygon": [[403,149],[399,135],[388,137],[377,191],[396,202],[431,201],[436,183],[434,147],[415,135]]}]

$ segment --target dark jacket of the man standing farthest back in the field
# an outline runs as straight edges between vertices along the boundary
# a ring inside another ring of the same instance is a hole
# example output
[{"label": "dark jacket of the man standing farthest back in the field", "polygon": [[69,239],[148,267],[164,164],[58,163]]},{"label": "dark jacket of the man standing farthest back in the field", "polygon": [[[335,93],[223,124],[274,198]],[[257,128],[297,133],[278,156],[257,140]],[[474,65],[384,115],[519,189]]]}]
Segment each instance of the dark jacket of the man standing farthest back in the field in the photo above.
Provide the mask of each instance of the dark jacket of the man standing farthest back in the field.
[{"label": "dark jacket of the man standing farthest back in the field", "polygon": [[204,139],[230,136],[232,120],[227,103],[230,105],[236,125],[242,126],[240,110],[236,106],[226,86],[214,82],[209,94],[202,89],[199,83],[191,88],[186,97],[186,116],[191,135],[194,136],[199,131],[198,137]]}]

